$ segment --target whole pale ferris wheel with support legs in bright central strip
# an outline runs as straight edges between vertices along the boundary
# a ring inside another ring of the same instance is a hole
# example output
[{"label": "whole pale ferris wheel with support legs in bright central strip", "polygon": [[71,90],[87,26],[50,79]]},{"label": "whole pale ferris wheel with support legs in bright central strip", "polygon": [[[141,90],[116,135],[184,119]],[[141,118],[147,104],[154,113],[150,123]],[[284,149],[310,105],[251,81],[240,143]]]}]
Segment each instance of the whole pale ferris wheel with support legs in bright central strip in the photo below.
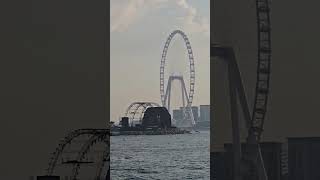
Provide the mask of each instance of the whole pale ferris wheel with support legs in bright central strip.
[{"label": "whole pale ferris wheel with support legs in bright central strip", "polygon": [[[187,48],[187,53],[188,53],[188,63],[189,63],[189,91],[187,92],[185,81],[183,79],[183,76],[177,76],[177,75],[171,75],[167,79],[167,83],[165,83],[165,66],[166,66],[166,60],[167,60],[167,54],[168,54],[168,49],[170,46],[170,43],[172,39],[176,36],[180,35]],[[166,43],[164,45],[163,51],[162,51],[162,56],[161,56],[161,61],[160,61],[160,96],[161,96],[161,102],[164,107],[170,111],[170,96],[171,96],[171,84],[173,81],[180,81],[181,84],[181,90],[182,90],[182,107],[183,107],[183,116],[184,119],[189,119],[191,122],[191,126],[195,124],[191,105],[193,101],[193,95],[194,95],[194,88],[195,88],[195,66],[194,66],[194,56],[193,56],[193,51],[191,48],[190,41],[187,37],[187,35],[181,31],[181,30],[175,30],[173,31],[169,37],[166,40]],[[166,88],[165,88],[165,84]],[[165,90],[166,89],[166,90]]]}]

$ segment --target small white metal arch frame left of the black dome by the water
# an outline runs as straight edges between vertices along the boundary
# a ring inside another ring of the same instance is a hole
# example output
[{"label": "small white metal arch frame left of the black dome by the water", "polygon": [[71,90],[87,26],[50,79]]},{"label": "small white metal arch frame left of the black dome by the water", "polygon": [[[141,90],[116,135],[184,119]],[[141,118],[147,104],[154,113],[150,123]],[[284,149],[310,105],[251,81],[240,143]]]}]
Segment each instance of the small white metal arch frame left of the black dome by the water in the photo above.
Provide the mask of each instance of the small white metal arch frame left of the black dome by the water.
[{"label": "small white metal arch frame left of the black dome by the water", "polygon": [[148,107],[159,107],[160,105],[158,103],[155,102],[133,102],[131,103],[126,112],[125,112],[125,116],[129,117],[129,122],[133,122],[135,115],[137,114],[138,110],[142,107],[142,111],[139,117],[139,121],[142,121],[143,118],[143,114],[144,112],[147,110]]}]

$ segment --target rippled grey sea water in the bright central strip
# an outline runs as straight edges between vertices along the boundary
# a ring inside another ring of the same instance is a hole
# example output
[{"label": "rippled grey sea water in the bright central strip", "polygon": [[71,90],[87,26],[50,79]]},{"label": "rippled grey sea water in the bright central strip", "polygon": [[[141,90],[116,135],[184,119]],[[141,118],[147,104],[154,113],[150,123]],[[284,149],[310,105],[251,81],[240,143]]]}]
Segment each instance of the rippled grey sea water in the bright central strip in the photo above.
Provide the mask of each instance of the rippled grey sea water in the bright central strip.
[{"label": "rippled grey sea water in the bright central strip", "polygon": [[210,131],[111,136],[112,180],[210,178]]}]

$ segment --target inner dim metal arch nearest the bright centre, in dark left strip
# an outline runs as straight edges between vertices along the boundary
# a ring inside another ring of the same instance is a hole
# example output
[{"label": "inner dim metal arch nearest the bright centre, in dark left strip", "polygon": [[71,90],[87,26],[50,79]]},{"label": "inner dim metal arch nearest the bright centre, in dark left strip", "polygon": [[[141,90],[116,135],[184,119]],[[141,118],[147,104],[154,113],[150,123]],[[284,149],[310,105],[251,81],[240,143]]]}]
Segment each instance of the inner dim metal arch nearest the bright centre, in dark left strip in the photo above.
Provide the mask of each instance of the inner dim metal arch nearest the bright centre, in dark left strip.
[{"label": "inner dim metal arch nearest the bright centre, in dark left strip", "polygon": [[[86,143],[81,147],[81,150],[79,151],[78,157],[76,159],[77,162],[81,162],[85,158],[85,155],[90,151],[91,147],[93,147],[98,142],[103,142],[107,146],[106,150],[103,152],[103,158],[101,159],[98,165],[95,180],[100,180],[102,169],[106,162],[106,157],[110,156],[110,154],[107,152],[109,149],[109,141],[107,139],[108,139],[107,134],[95,134],[91,136],[90,139],[86,141]],[[80,163],[76,163],[72,169],[73,179],[77,179],[77,176],[79,175],[79,170],[80,170]]]}]

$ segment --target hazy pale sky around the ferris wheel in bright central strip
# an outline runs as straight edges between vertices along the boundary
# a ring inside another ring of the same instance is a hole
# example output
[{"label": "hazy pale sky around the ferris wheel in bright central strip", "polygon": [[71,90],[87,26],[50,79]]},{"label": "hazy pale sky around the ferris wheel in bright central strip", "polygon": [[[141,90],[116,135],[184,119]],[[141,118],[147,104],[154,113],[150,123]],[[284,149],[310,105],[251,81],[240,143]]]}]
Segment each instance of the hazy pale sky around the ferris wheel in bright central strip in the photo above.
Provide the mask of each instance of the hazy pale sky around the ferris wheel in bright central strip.
[{"label": "hazy pale sky around the ferris wheel in bright central strip", "polygon": [[[180,29],[194,53],[196,86],[193,105],[210,102],[209,0],[111,0],[111,120],[134,101],[160,103],[160,59],[168,35]],[[178,72],[188,84],[183,39],[170,45],[167,73]],[[187,87],[187,89],[189,89]]]}]

